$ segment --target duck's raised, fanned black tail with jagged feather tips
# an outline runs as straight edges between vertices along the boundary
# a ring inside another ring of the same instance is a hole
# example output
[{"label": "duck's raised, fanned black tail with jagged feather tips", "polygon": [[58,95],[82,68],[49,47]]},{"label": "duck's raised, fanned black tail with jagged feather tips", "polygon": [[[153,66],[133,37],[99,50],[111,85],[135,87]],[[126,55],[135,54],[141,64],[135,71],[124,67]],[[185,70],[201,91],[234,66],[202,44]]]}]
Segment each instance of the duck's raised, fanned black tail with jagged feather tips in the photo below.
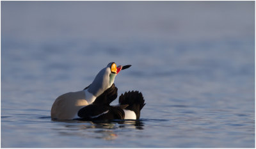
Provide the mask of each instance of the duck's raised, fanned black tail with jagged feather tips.
[{"label": "duck's raised, fanned black tail with jagged feather tips", "polygon": [[134,111],[136,114],[137,120],[140,118],[140,111],[145,106],[145,100],[143,95],[139,91],[128,91],[119,97],[120,105],[129,105],[125,107],[127,110]]}]

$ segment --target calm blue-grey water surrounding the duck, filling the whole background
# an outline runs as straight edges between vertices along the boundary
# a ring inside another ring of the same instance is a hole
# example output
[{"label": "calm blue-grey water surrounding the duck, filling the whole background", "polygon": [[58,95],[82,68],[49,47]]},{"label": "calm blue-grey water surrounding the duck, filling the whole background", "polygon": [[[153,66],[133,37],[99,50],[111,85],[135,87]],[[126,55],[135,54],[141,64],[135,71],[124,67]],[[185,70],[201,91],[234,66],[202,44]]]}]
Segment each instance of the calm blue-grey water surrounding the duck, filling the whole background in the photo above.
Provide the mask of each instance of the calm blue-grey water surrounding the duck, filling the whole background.
[{"label": "calm blue-grey water surrounding the duck, filling the whole background", "polygon": [[[254,148],[254,3],[1,1],[1,147]],[[111,61],[140,122],[52,121]]]}]

